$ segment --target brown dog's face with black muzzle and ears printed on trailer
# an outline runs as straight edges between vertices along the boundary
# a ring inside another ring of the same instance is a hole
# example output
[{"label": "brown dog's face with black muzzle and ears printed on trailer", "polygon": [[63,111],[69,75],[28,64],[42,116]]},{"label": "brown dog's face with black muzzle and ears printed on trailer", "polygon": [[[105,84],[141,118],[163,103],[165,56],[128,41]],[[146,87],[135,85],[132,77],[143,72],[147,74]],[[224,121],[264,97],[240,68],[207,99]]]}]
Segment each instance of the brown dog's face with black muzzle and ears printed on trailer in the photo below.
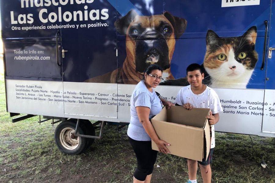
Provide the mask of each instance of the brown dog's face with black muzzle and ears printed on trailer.
[{"label": "brown dog's face with black muzzle and ears printed on trailer", "polygon": [[175,38],[183,34],[186,25],[185,19],[169,12],[139,16],[134,10],[115,23],[118,32],[126,34],[128,61],[141,74],[150,64],[157,64],[163,68],[164,73],[170,73]]}]

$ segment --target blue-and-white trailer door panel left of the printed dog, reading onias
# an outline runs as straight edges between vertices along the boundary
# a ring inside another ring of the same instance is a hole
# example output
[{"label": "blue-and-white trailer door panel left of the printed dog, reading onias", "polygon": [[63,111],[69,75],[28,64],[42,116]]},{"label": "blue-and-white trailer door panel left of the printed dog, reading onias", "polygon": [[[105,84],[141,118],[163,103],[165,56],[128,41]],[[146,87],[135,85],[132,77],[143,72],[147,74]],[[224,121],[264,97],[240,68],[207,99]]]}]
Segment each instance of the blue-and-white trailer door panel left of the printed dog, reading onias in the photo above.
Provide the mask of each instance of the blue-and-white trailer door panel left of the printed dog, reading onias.
[{"label": "blue-and-white trailer door panel left of the printed dog, reading onias", "polygon": [[[96,82],[94,79],[117,69],[116,29],[113,24],[116,3],[111,5],[107,0],[68,3],[61,6],[61,11],[64,19],[61,22],[61,52],[65,116],[116,119],[117,83],[111,82],[108,76],[104,81]],[[64,16],[67,14],[73,16]]]}]

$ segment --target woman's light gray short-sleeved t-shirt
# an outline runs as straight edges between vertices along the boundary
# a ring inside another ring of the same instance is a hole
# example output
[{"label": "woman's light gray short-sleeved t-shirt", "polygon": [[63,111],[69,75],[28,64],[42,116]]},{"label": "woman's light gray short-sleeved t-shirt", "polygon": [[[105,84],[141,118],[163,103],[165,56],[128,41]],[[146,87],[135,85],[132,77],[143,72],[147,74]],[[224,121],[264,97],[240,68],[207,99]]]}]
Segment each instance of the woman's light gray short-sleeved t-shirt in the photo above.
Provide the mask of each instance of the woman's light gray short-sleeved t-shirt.
[{"label": "woman's light gray short-sleeved t-shirt", "polygon": [[156,92],[153,88],[153,92],[151,93],[145,83],[144,80],[140,81],[136,88],[133,91],[131,96],[131,105],[130,105],[130,124],[127,130],[127,135],[137,141],[151,141],[151,138],[146,133],[142,124],[138,119],[138,113],[136,107],[144,106],[150,108],[149,119],[154,117],[156,114],[160,113],[162,109],[162,103],[159,97],[156,95]]}]

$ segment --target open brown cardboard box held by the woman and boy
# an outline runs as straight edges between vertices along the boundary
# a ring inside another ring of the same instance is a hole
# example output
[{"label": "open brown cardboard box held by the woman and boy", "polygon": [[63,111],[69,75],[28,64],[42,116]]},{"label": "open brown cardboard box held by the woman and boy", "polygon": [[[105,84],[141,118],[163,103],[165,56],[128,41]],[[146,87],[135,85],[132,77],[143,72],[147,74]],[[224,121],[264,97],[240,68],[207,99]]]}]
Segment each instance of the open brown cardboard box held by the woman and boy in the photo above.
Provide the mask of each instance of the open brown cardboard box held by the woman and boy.
[{"label": "open brown cardboard box held by the woman and boy", "polygon": [[[170,154],[202,161],[208,157],[211,145],[210,125],[205,118],[209,112],[205,108],[164,107],[151,121],[158,137],[171,144],[167,146]],[[152,149],[158,150],[153,141]]]}]

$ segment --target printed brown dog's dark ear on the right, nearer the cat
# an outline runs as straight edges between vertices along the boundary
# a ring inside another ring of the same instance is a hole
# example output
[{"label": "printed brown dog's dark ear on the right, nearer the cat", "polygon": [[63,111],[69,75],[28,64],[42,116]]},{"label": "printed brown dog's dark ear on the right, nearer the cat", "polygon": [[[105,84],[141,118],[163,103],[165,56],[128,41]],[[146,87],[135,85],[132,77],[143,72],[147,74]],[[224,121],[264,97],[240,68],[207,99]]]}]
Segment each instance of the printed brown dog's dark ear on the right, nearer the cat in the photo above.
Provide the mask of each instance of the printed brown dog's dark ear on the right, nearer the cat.
[{"label": "printed brown dog's dark ear on the right, nearer the cat", "polygon": [[187,26],[187,20],[184,18],[180,18],[177,16],[171,15],[169,12],[164,12],[163,15],[167,18],[167,20],[170,21],[174,28],[174,34],[176,36],[176,39],[180,38],[181,35],[185,32],[186,26]]}]

